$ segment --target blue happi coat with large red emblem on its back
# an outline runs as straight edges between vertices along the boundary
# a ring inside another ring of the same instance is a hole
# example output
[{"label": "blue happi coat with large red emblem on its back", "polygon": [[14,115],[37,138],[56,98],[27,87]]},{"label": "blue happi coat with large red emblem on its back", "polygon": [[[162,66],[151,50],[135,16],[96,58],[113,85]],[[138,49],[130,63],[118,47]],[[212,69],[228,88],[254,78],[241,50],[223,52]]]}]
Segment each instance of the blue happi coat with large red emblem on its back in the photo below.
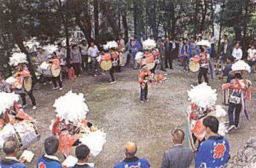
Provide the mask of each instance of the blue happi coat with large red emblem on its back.
[{"label": "blue happi coat with large red emblem on its back", "polygon": [[222,167],[229,159],[229,144],[225,137],[211,136],[199,146],[195,157],[196,168]]}]

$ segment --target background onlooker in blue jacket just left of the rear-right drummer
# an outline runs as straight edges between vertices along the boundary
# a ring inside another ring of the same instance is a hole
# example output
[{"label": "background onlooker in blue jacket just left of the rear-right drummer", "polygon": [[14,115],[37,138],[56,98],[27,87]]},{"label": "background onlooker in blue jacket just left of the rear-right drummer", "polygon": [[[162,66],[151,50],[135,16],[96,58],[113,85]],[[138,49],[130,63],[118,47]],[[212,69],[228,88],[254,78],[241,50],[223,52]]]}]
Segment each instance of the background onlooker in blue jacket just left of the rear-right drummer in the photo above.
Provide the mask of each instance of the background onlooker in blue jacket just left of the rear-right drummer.
[{"label": "background onlooker in blue jacket just left of the rear-right drummer", "polygon": [[183,45],[180,50],[180,55],[182,59],[183,70],[186,71],[188,68],[189,59],[191,57],[191,45],[188,39],[184,39]]}]

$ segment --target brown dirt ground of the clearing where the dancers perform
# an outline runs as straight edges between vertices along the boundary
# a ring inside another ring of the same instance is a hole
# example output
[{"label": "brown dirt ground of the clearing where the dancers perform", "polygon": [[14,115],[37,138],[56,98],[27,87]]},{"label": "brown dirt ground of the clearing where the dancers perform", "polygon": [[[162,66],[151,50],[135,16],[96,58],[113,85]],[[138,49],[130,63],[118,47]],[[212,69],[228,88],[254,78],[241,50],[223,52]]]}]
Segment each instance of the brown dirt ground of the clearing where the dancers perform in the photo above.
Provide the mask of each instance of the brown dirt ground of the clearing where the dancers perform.
[{"label": "brown dirt ground of the clearing where the dancers perform", "polygon": [[[168,70],[168,79],[163,85],[149,89],[150,102],[147,103],[140,103],[138,99],[138,70],[128,68],[115,73],[117,83],[113,86],[108,84],[108,73],[100,77],[84,73],[76,80],[66,80],[63,91],[51,91],[51,86],[36,90],[34,95],[38,109],[31,111],[28,101],[26,112],[37,119],[41,139],[29,148],[36,156],[27,165],[33,167],[37,158],[44,153],[44,139],[51,134],[49,125],[55,118],[52,108],[54,100],[72,89],[86,95],[90,107],[87,118],[107,133],[102,153],[98,157],[91,157],[90,162],[94,162],[99,168],[113,167],[124,158],[125,142],[134,141],[138,145],[138,157],[147,157],[151,167],[160,167],[164,150],[172,146],[171,132],[175,128],[185,128],[186,108],[189,105],[186,91],[191,88],[191,84],[197,82],[197,73],[182,72],[179,65],[180,63],[175,62],[175,70]],[[255,73],[249,78],[256,83]],[[210,80],[210,85],[218,89],[219,104],[222,101],[222,82],[218,77]],[[248,137],[256,136],[255,102],[256,96],[253,95],[252,102],[246,104],[251,121],[246,121],[244,114],[241,114],[241,129],[227,135],[232,155],[244,146]]]}]

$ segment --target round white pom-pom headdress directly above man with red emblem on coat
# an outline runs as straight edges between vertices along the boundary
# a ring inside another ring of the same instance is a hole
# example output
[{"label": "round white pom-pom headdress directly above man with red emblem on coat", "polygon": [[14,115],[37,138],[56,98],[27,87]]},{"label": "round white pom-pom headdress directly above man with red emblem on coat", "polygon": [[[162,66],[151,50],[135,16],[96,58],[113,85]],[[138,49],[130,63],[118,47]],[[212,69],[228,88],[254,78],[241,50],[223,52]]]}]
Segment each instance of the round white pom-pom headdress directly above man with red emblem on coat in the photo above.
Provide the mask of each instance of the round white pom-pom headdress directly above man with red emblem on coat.
[{"label": "round white pom-pom headdress directly above man with red emblem on coat", "polygon": [[212,107],[217,100],[216,89],[212,89],[204,82],[188,91],[188,100],[201,108]]}]

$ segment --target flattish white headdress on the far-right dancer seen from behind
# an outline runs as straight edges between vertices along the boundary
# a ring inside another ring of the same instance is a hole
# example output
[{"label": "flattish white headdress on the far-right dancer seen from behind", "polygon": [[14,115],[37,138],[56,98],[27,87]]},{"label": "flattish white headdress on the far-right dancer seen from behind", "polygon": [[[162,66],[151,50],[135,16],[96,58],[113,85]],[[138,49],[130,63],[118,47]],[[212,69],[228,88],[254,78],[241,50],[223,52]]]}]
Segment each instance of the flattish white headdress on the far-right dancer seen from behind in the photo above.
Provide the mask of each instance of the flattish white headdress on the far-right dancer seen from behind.
[{"label": "flattish white headdress on the far-right dancer seen from behind", "polygon": [[232,71],[230,72],[230,74],[232,75],[234,75],[237,72],[241,72],[243,75],[247,75],[251,72],[251,66],[243,60],[239,60],[232,65],[231,70]]}]

